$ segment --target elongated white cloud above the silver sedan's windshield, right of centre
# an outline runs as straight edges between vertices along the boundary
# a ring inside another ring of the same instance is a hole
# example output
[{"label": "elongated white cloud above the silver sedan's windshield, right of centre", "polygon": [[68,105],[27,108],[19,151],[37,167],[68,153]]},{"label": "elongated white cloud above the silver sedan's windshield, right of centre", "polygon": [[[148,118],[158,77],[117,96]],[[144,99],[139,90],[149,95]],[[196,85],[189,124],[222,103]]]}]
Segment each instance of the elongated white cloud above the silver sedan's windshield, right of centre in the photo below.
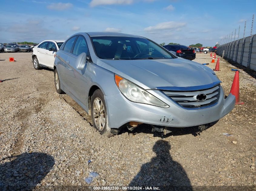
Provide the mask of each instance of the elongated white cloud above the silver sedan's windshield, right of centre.
[{"label": "elongated white cloud above the silver sedan's windshield, right of centre", "polygon": [[158,23],[155,26],[146,27],[144,30],[147,32],[152,31],[152,30],[165,30],[165,29],[178,30],[181,27],[184,27],[185,25],[186,25],[186,23],[169,21],[169,22]]}]

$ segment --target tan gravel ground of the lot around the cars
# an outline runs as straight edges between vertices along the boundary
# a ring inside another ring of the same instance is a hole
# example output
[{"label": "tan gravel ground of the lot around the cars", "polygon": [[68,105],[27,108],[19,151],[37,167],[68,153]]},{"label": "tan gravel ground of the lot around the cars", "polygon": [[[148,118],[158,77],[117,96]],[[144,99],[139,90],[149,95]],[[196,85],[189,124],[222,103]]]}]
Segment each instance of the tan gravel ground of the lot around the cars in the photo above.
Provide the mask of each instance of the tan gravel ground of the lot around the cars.
[{"label": "tan gravel ground of the lot around the cars", "polygon": [[[196,57],[211,62],[209,54]],[[255,190],[255,76],[240,72],[245,104],[203,132],[189,127],[161,136],[142,126],[106,138],[70,97],[56,93],[52,70],[33,68],[31,53],[0,53],[0,60],[0,190]],[[220,68],[216,73],[228,95],[234,66],[221,59]]]}]

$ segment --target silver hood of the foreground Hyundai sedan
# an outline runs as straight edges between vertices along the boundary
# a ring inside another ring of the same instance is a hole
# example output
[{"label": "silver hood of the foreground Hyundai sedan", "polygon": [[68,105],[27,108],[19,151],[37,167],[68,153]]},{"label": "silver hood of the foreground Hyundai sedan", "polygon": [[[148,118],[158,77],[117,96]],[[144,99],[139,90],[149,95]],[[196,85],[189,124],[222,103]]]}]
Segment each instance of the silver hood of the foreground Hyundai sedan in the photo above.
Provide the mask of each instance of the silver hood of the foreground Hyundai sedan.
[{"label": "silver hood of the foreground Hyundai sedan", "polygon": [[177,87],[181,87],[181,89],[185,88],[184,90],[186,90],[188,87],[190,89],[194,87],[196,90],[199,88],[198,86],[205,87],[206,85],[210,88],[221,82],[207,66],[182,58],[98,59],[97,65],[140,85],[144,89],[179,90]]}]

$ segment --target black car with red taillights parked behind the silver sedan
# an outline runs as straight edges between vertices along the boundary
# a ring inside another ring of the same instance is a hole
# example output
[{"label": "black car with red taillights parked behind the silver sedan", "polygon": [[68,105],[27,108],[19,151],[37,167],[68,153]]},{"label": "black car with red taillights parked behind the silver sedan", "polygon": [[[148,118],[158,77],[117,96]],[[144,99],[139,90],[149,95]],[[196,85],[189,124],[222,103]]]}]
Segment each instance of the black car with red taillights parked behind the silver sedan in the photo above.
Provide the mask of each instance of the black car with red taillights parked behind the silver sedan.
[{"label": "black car with red taillights parked behind the silver sedan", "polygon": [[188,60],[194,60],[195,59],[195,50],[193,48],[188,48],[188,46],[184,45],[165,45],[163,46],[165,49],[169,51],[176,52],[176,55],[185,58]]}]

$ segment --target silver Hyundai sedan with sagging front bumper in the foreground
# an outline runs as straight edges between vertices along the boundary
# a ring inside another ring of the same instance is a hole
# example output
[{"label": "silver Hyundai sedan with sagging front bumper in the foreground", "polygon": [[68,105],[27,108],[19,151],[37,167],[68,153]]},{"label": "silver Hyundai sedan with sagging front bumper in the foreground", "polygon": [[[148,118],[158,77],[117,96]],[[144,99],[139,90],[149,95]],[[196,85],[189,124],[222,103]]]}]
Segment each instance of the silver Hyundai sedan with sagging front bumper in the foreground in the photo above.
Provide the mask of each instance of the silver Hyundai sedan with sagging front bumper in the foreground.
[{"label": "silver Hyundai sedan with sagging front bumper in the foreground", "polygon": [[164,133],[211,123],[235,103],[211,68],[122,33],[72,35],[56,52],[54,78],[56,91],[72,97],[106,136],[141,123]]}]

